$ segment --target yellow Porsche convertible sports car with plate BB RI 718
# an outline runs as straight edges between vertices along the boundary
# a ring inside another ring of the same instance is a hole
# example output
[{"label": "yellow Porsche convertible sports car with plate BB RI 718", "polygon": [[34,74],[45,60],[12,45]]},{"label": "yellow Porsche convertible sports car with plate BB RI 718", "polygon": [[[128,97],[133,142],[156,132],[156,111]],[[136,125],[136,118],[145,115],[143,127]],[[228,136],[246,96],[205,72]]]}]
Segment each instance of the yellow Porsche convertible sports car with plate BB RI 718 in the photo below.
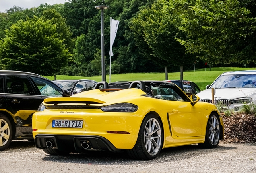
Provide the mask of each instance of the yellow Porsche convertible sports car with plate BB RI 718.
[{"label": "yellow Porsche convertible sports car with plate BB RI 718", "polygon": [[[103,86],[100,86],[103,84]],[[126,150],[155,159],[162,148],[198,143],[215,148],[224,125],[211,103],[171,82],[134,81],[128,89],[99,82],[71,97],[47,98],[32,119],[35,146],[51,155]]]}]

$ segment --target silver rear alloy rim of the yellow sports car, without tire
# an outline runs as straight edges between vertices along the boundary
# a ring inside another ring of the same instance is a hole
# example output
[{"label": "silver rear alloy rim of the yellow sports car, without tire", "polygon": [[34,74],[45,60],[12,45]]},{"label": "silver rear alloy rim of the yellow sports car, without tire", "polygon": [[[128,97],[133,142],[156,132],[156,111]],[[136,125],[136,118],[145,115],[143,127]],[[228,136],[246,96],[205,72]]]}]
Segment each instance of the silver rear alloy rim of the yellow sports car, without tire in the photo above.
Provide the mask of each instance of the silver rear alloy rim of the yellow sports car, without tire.
[{"label": "silver rear alloy rim of the yellow sports car, without tire", "polygon": [[144,129],[144,143],[149,155],[154,156],[161,147],[161,127],[157,119],[151,118],[147,121]]}]

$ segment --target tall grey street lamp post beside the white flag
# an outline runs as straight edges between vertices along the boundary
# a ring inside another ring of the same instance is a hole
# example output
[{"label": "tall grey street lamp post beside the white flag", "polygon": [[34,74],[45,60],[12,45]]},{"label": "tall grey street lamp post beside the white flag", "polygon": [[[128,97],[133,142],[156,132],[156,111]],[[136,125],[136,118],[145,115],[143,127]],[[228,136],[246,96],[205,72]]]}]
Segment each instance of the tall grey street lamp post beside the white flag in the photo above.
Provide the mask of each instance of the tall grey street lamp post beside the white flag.
[{"label": "tall grey street lamp post beside the white flag", "polygon": [[101,10],[101,75],[102,75],[102,81],[105,80],[105,60],[104,60],[104,9],[107,9],[108,6],[105,5],[100,5],[100,6],[95,6],[96,9]]}]

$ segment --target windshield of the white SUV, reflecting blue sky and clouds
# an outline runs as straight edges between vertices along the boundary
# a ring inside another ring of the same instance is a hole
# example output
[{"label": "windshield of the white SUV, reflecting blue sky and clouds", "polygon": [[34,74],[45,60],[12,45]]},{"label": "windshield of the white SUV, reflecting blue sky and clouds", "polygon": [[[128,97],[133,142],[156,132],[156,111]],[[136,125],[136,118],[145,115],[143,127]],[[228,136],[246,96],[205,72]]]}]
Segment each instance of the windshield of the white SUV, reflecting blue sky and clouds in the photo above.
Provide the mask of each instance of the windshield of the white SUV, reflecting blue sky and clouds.
[{"label": "windshield of the white SUV, reflecting blue sky and clouds", "polygon": [[211,88],[255,88],[256,74],[221,75]]}]

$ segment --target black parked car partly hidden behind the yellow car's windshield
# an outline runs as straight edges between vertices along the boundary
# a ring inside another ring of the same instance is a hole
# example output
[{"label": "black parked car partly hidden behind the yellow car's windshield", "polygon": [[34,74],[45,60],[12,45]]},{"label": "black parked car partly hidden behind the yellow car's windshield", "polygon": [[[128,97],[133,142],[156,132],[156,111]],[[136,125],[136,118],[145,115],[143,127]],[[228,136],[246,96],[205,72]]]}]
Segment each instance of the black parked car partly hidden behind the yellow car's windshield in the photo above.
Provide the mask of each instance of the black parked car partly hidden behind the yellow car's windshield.
[{"label": "black parked car partly hidden behind the yellow car's windshield", "polygon": [[201,91],[200,88],[197,86],[197,84],[188,80],[165,80],[165,81],[176,84],[188,96],[192,94],[197,94]]}]

